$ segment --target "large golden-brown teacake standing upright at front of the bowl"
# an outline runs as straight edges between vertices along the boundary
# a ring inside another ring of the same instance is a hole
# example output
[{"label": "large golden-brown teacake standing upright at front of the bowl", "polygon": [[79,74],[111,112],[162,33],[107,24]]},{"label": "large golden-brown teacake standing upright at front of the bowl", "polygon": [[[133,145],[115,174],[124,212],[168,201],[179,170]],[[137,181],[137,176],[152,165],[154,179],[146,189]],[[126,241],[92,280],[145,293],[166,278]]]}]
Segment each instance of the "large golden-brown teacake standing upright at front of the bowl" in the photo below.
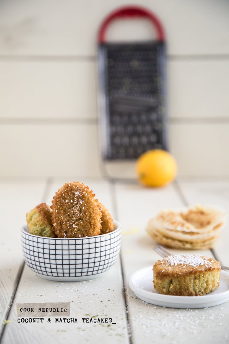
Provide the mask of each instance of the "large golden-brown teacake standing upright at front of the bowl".
[{"label": "large golden-brown teacake standing upright at front of the bowl", "polygon": [[101,215],[95,194],[83,183],[66,183],[53,197],[51,222],[58,238],[99,235]]}]

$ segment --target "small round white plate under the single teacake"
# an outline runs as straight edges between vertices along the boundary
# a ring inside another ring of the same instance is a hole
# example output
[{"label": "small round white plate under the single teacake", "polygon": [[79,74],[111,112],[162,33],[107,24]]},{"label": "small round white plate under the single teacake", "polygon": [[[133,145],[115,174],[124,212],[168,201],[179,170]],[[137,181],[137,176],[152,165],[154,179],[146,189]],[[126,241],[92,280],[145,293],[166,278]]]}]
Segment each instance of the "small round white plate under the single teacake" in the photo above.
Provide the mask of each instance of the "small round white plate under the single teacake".
[{"label": "small round white plate under the single teacake", "polygon": [[229,300],[229,273],[221,270],[219,288],[204,296],[172,296],[159,294],[153,288],[152,266],[140,269],[129,279],[130,289],[148,303],[170,308],[205,308]]}]

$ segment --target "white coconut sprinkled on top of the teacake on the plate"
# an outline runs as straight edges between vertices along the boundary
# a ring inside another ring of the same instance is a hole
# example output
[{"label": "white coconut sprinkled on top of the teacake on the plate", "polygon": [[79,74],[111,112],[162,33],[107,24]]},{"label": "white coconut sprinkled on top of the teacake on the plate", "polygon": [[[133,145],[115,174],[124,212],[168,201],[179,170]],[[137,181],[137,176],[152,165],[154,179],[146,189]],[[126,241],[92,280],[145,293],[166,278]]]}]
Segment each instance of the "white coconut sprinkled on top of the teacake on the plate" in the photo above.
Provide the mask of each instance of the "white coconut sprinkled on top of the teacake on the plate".
[{"label": "white coconut sprinkled on top of the teacake on the plate", "polygon": [[200,266],[206,265],[211,266],[212,263],[208,259],[202,258],[201,255],[171,255],[167,256],[165,259],[166,265],[176,266],[180,265],[188,265],[188,266]]}]

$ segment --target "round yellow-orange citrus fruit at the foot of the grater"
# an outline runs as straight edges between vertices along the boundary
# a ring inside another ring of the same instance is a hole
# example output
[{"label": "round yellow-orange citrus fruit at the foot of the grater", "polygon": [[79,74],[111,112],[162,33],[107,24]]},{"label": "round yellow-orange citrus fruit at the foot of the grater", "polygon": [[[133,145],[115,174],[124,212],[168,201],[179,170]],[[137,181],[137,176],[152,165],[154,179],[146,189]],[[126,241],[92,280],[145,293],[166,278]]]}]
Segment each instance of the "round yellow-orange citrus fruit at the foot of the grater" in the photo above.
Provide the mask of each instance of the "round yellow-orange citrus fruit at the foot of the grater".
[{"label": "round yellow-orange citrus fruit at the foot of the grater", "polygon": [[136,163],[138,180],[147,186],[163,186],[176,176],[177,165],[173,156],[162,149],[149,150]]}]

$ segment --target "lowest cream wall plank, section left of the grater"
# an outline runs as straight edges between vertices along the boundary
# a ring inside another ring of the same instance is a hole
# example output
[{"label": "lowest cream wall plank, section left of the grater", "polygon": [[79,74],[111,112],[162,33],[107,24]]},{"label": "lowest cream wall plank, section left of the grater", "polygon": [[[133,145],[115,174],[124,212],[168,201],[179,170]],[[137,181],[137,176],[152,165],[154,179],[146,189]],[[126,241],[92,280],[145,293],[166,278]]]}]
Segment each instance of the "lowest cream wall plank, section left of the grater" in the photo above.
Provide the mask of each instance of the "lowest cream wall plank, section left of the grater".
[{"label": "lowest cream wall plank, section left of the grater", "polygon": [[3,125],[3,176],[99,176],[95,124]]}]

